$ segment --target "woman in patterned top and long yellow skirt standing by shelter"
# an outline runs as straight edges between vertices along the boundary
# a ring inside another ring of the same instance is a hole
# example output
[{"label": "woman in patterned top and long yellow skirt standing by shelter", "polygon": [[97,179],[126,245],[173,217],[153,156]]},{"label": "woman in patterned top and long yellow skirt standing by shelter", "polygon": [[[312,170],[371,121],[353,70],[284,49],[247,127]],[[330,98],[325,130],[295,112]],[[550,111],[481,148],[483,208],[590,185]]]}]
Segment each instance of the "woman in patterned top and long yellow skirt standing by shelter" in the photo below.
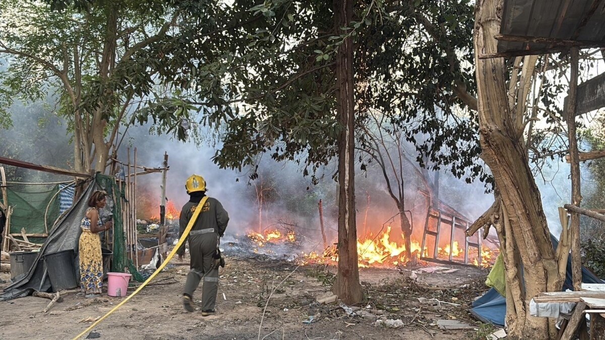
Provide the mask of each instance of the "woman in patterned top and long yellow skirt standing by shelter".
[{"label": "woman in patterned top and long yellow skirt standing by shelter", "polygon": [[107,201],[105,191],[95,191],[88,198],[88,209],[80,222],[80,288],[86,293],[86,298],[101,296],[103,286],[103,257],[101,254],[101,239],[99,232],[109,230],[113,222],[101,223],[99,209],[104,208]]}]

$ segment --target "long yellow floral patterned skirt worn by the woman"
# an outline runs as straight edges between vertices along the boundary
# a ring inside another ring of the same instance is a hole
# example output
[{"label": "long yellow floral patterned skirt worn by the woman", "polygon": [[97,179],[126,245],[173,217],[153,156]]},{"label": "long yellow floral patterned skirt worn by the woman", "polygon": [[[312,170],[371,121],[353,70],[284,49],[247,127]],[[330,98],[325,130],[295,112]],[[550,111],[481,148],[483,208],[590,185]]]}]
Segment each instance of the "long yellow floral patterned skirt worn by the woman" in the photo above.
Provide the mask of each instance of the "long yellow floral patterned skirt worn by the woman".
[{"label": "long yellow floral patterned skirt worn by the woman", "polygon": [[87,294],[100,294],[103,287],[103,257],[99,234],[82,230],[79,248],[80,288]]}]

